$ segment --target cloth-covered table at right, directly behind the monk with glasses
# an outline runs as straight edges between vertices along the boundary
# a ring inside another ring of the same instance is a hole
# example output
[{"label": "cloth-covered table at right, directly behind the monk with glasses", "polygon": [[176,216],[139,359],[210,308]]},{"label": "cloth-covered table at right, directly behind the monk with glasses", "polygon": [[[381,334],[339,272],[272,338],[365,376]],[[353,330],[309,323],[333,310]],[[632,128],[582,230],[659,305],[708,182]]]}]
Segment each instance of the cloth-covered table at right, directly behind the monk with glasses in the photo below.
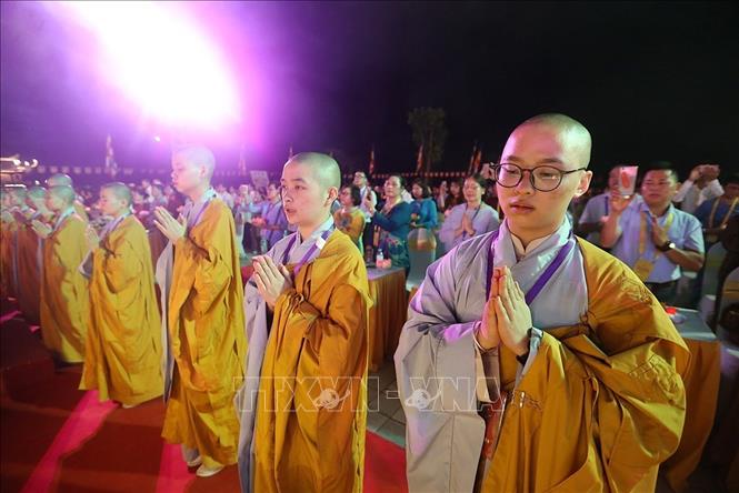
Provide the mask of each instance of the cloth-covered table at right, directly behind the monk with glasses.
[{"label": "cloth-covered table at right, directly behind the monk with glasses", "polygon": [[660,470],[670,487],[683,491],[708,441],[718,402],[721,379],[721,343],[696,310],[678,309],[686,320],[675,326],[690,350],[690,363],[682,379],[686,388],[686,421],[678,450]]}]

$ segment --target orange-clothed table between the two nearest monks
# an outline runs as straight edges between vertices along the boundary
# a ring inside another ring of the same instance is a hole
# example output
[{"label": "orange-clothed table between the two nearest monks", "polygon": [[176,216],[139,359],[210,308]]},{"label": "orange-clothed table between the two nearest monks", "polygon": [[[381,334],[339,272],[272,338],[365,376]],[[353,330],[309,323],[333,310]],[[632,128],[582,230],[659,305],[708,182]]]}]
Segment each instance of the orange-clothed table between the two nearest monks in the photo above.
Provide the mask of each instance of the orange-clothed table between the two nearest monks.
[{"label": "orange-clothed table between the two nearest monks", "polygon": [[376,372],[398,348],[408,313],[406,270],[367,269],[372,306],[369,313],[369,366]]}]

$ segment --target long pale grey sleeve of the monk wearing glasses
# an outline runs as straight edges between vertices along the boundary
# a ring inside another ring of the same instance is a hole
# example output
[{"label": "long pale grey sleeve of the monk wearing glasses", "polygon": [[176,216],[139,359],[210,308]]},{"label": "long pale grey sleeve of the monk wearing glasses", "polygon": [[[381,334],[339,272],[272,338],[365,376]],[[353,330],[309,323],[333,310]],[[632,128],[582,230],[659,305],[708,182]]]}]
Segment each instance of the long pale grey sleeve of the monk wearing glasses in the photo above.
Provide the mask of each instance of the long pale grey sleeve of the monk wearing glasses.
[{"label": "long pale grey sleeve of the monk wearing glasses", "polygon": [[455,312],[456,255],[452,250],[427,270],[395,354],[409,491],[472,491],[482,450],[473,339],[479,321],[460,322]]}]

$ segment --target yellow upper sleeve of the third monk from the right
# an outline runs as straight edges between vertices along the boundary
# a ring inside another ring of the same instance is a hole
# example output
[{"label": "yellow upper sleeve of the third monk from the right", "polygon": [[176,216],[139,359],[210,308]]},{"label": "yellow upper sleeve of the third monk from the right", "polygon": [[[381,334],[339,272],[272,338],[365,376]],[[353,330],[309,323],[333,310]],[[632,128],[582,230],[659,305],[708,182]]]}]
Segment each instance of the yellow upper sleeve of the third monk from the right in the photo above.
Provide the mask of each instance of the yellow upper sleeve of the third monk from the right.
[{"label": "yellow upper sleeve of the third monk from the right", "polygon": [[232,231],[228,219],[226,214],[219,217],[217,224],[202,235],[202,245],[189,237],[179,239],[174,244],[176,255],[184,255],[194,272],[196,295],[192,303],[199,313],[208,312],[213,302],[221,299],[233,275],[230,251]]}]

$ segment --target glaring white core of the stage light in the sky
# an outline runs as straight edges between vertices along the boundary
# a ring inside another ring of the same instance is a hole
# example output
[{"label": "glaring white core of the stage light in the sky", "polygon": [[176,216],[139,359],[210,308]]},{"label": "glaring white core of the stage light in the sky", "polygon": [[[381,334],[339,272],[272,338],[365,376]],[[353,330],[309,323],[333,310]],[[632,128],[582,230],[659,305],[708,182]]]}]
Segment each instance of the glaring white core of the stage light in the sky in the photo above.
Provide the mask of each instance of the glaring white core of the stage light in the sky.
[{"label": "glaring white core of the stage light in the sky", "polygon": [[100,69],[144,112],[167,124],[240,120],[237,90],[221,53],[177,3],[66,2],[100,38]]}]

